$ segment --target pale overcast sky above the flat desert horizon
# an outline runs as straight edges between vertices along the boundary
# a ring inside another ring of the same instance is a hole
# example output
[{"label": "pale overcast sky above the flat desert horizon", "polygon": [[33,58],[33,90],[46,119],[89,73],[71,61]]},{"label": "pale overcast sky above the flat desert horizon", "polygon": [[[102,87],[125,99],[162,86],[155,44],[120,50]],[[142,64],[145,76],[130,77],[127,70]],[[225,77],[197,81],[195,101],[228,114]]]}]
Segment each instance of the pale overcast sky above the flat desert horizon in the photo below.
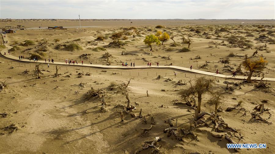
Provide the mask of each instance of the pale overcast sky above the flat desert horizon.
[{"label": "pale overcast sky above the flat desert horizon", "polygon": [[6,19],[275,19],[274,1],[0,0]]}]

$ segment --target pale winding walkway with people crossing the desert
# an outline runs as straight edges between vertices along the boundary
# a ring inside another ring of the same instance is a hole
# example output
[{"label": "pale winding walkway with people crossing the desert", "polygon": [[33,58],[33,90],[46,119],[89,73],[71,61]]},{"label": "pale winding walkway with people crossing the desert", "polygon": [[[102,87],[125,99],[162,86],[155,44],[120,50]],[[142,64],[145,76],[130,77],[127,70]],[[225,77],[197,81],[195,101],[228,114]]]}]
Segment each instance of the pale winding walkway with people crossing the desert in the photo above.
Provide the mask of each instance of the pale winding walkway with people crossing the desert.
[{"label": "pale winding walkway with people crossing the desert", "polygon": [[[1,35],[3,37],[3,34],[1,34]],[[4,41],[8,40],[7,37],[3,37],[3,38],[4,38]],[[30,61],[28,59],[19,60],[18,57],[15,57],[15,56],[13,56],[11,54],[8,54],[8,50],[11,49],[12,47],[9,46],[8,44],[5,44],[5,46],[7,48],[3,49],[0,52],[6,58],[9,58],[9,59],[12,59],[12,60],[16,60],[16,61],[23,61],[23,62],[45,63],[45,61],[33,61],[33,60]],[[6,52],[6,55],[4,55],[5,52]],[[54,62],[54,64],[56,64],[56,65],[67,65],[68,66],[68,64],[66,64],[64,62]],[[95,68],[116,68],[116,69],[148,68],[147,66],[123,67],[123,66],[107,66],[107,65],[94,65],[94,64],[83,64],[83,65],[80,64],[80,65],[77,65],[77,66],[86,66],[86,67],[95,67]],[[204,75],[216,76],[216,77],[226,78],[226,79],[240,79],[240,80],[247,79],[247,76],[236,76],[234,78],[234,77],[232,77],[232,75],[222,75],[222,74],[205,72],[205,71],[200,71],[200,70],[195,70],[195,69],[190,70],[190,68],[179,67],[179,66],[159,66],[159,67],[152,66],[150,68],[174,68],[174,69],[181,70],[181,71],[187,71],[187,72],[192,72],[192,73],[199,73],[199,74],[204,74]],[[148,69],[150,69],[150,68],[148,68]],[[251,77],[251,80],[261,80],[261,77]],[[275,81],[275,78],[264,78],[263,81]]]}]

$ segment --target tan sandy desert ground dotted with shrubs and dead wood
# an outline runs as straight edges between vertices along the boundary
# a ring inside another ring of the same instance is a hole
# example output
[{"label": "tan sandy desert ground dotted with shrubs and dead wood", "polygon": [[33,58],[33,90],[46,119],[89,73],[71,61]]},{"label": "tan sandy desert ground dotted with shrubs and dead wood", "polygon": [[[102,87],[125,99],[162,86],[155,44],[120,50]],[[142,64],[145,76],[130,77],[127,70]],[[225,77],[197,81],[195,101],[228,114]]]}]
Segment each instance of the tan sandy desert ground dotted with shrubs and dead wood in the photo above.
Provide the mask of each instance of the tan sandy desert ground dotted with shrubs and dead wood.
[{"label": "tan sandy desert ground dotted with shrubs and dead wood", "polygon": [[[102,55],[108,52],[112,55],[109,58],[111,65],[121,65],[122,62],[125,63],[126,61],[128,64],[135,62],[136,65],[146,65],[149,61],[152,62],[152,65],[156,65],[156,62],[160,62],[160,65],[172,63],[172,65],[188,68],[192,65],[193,68],[209,72],[215,72],[216,69],[219,69],[220,73],[226,75],[232,74],[230,70],[236,70],[245,54],[251,56],[258,48],[261,49],[258,50],[258,55],[251,58],[259,59],[259,55],[262,54],[265,60],[269,62],[268,69],[263,70],[263,72],[268,73],[265,77],[274,77],[275,48],[274,44],[270,44],[274,41],[274,25],[269,25],[266,21],[253,21],[255,23],[247,25],[208,25],[210,23],[192,21],[193,23],[189,23],[190,26],[183,25],[185,23],[168,24],[166,20],[156,20],[142,26],[145,23],[141,21],[138,23],[141,26],[135,26],[137,31],[130,31],[126,40],[120,40],[125,44],[122,48],[104,47],[112,42],[109,37],[113,33],[122,32],[125,30],[124,28],[129,28],[118,27],[124,25],[118,25],[117,21],[95,21],[106,22],[109,27],[85,28],[83,30],[17,30],[16,33],[7,35],[9,43],[16,44],[15,46],[19,47],[15,51],[11,51],[11,54],[15,56],[24,55],[28,58],[33,53],[41,54],[43,52],[43,59],[53,58],[54,61],[64,61],[64,59],[70,58],[80,61],[79,55],[91,54],[82,57],[84,63],[104,64],[106,58],[102,58]],[[16,25],[20,22],[22,21],[13,21],[9,24]],[[24,22],[25,26],[30,27],[41,23],[39,21]],[[59,22],[62,23],[62,21]],[[207,22],[211,21],[207,20]],[[62,26],[66,24],[64,22]],[[155,26],[150,26],[151,24],[166,26],[165,28],[156,29]],[[262,26],[252,24],[261,24]],[[68,26],[74,25],[68,23]],[[191,29],[199,30],[200,33],[190,31]],[[144,44],[143,40],[146,35],[155,34],[156,30],[174,35],[174,40],[179,45],[170,47],[173,44],[173,40],[170,39],[164,42],[163,46],[152,45],[153,51],[149,51],[150,48]],[[100,35],[105,36],[107,39],[95,41],[94,39]],[[269,40],[255,40],[260,35],[266,35]],[[207,36],[210,38],[207,39]],[[191,51],[179,52],[181,48],[188,46],[188,44],[183,44],[182,37],[192,38]],[[241,48],[240,46],[231,45],[228,43],[228,38],[246,40],[252,44],[252,49],[246,46]],[[54,39],[60,41],[56,42]],[[20,42],[24,43],[25,40],[32,40],[35,44],[28,47],[20,46]],[[222,43],[223,41],[224,43]],[[79,44],[83,50],[65,51],[62,48],[55,49],[59,44],[68,45],[71,43]],[[266,47],[260,47],[265,44]],[[106,51],[93,51],[96,47],[104,47]],[[124,54],[130,54],[121,55],[122,51],[124,51]],[[229,57],[230,52],[234,56]],[[200,55],[201,59],[194,59],[197,55]],[[170,59],[167,59],[167,57]],[[228,66],[224,66],[219,62],[223,58],[229,58],[230,64]],[[180,89],[190,87],[188,81],[191,80],[191,83],[195,84],[195,80],[198,77],[204,77],[204,75],[196,74],[195,76],[192,73],[178,72],[171,69],[100,70],[74,65],[62,66],[58,72],[60,75],[56,78],[54,77],[54,65],[51,64],[50,68],[47,68],[47,65],[41,66],[41,68],[43,67],[41,79],[35,79],[34,64],[11,61],[4,57],[1,57],[0,61],[4,61],[4,63],[0,63],[1,81],[6,81],[7,84],[7,87],[0,93],[0,112],[9,114],[8,117],[1,117],[0,121],[0,127],[4,128],[0,130],[0,133],[2,133],[0,138],[3,141],[0,145],[0,153],[134,153],[140,149],[144,141],[153,140],[157,136],[162,138],[158,145],[160,145],[160,150],[163,153],[209,153],[210,151],[213,153],[234,153],[233,149],[226,148],[226,144],[229,143],[228,140],[211,135],[211,133],[214,133],[213,129],[215,127],[211,121],[208,121],[209,127],[199,126],[192,130],[199,141],[189,135],[185,136],[183,141],[178,141],[173,135],[168,137],[167,133],[163,132],[163,129],[169,128],[169,124],[165,123],[169,118],[174,119],[174,124],[176,119],[178,120],[179,134],[180,129],[191,129],[189,121],[194,116],[195,110],[186,105],[176,104],[173,100],[181,99],[178,92]],[[208,67],[200,68],[200,66],[206,64],[206,61]],[[11,66],[14,68],[10,69]],[[229,67],[233,68],[229,69]],[[28,73],[24,73],[26,69],[29,71]],[[176,76],[174,76],[173,71],[177,73]],[[91,75],[82,75],[79,78],[79,72],[85,74],[89,72]],[[248,73],[244,68],[243,72],[243,75]],[[255,72],[254,75],[261,75],[261,73]],[[162,77],[157,79],[158,75]],[[172,79],[172,81],[164,81],[167,78]],[[124,114],[125,121],[121,122],[118,113],[119,108],[114,108],[118,104],[126,105],[127,100],[122,94],[113,93],[115,90],[110,90],[108,86],[111,82],[121,84],[123,82],[127,83],[130,79],[128,86],[129,99],[137,107],[134,113],[138,115],[142,108],[144,116],[150,114],[147,123],[143,121],[144,118],[133,118],[129,114]],[[176,86],[175,82],[178,82],[178,80],[186,82],[187,85]],[[214,90],[226,88],[224,81],[224,79],[216,78]],[[84,86],[79,85],[81,82],[85,83]],[[238,133],[234,134],[226,130],[220,134],[230,133],[230,137],[234,142],[267,144],[266,149],[242,149],[240,153],[274,153],[275,83],[267,82],[266,84],[270,88],[256,88],[254,84],[256,82],[239,86],[231,85],[236,89],[224,94],[223,104],[221,105],[223,111],[219,112],[218,115],[230,127],[237,129]],[[84,101],[84,94],[91,86],[95,89],[108,90],[107,96],[105,96],[108,112],[101,112],[101,100],[98,97]],[[149,97],[147,97],[146,90],[148,90]],[[202,111],[214,111],[213,106],[206,104],[210,97],[210,94],[203,95]],[[238,109],[231,112],[225,111],[227,107],[236,106],[238,101],[241,100],[243,103]],[[263,100],[267,100],[267,103]],[[251,120],[251,113],[255,112],[254,107],[262,103],[264,103],[266,109],[270,109],[264,111],[262,117],[273,124]],[[162,105],[163,107],[161,107]],[[244,110],[240,110],[241,107]],[[143,135],[142,128],[149,127],[151,117],[154,118],[154,126],[148,131],[149,133]],[[205,119],[207,117],[209,116],[205,116]],[[10,130],[5,127],[13,123],[16,124],[18,130],[9,133]],[[244,137],[240,138],[240,136]],[[151,150],[149,148],[140,153],[150,153]]]}]

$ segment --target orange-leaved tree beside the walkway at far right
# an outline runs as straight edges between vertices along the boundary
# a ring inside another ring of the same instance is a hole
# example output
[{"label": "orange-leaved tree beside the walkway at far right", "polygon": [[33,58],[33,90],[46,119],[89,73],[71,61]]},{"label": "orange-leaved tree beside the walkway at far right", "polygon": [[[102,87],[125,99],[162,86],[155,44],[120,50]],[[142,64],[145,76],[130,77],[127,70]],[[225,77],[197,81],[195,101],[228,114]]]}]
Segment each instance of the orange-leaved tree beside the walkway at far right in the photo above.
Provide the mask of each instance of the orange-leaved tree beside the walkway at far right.
[{"label": "orange-leaved tree beside the walkway at far right", "polygon": [[265,61],[262,57],[259,60],[251,60],[245,55],[244,61],[242,65],[245,67],[246,70],[249,71],[248,77],[246,81],[248,83],[251,82],[251,76],[254,71],[262,71],[266,67],[267,61]]}]

